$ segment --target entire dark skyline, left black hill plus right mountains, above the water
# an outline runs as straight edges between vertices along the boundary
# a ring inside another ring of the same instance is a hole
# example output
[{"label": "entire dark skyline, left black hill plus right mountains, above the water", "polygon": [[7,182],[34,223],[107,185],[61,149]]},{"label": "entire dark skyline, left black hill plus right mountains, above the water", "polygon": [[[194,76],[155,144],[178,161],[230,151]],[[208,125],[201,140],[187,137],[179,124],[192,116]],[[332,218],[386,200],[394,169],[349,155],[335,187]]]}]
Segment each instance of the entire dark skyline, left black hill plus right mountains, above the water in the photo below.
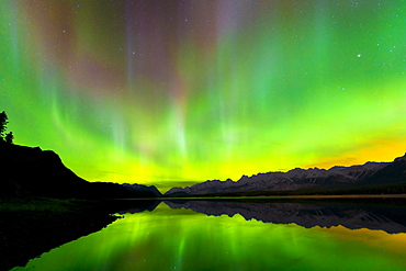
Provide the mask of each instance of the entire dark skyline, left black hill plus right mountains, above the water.
[{"label": "entire dark skyline, left black hill plus right mountains, above the water", "polygon": [[[192,187],[172,188],[163,196],[323,194],[326,191],[336,191],[336,194],[349,191],[381,193],[381,187],[385,187],[385,193],[406,193],[406,155],[392,162],[366,162],[328,170],[295,168],[287,172],[243,176],[238,181],[205,181]],[[1,145],[0,196],[131,199],[161,197],[162,194],[154,185],[88,182],[65,167],[52,150]]]}]

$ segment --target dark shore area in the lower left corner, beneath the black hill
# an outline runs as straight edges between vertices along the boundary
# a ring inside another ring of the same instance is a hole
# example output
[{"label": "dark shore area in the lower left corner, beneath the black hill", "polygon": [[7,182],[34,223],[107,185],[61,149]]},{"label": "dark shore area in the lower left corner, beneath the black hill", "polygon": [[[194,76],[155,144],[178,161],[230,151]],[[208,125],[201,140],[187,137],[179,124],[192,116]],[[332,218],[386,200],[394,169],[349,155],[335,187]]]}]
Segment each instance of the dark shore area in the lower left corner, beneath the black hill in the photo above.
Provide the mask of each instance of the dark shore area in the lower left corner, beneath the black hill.
[{"label": "dark shore area in the lower left corner, beneath the black hill", "polygon": [[31,259],[120,218],[99,206],[84,200],[0,199],[0,270],[24,267]]}]

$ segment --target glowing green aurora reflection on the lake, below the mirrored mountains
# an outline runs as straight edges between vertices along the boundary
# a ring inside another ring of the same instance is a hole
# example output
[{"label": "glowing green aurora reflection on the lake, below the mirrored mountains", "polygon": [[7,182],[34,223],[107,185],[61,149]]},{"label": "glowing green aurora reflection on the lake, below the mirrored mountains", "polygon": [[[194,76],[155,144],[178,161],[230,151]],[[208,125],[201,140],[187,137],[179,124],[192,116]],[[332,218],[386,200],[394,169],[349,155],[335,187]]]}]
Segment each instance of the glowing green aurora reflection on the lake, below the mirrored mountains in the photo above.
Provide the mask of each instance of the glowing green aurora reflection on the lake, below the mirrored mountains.
[{"label": "glowing green aurora reflection on the lake, below the mirrored mountains", "polygon": [[[246,221],[190,210],[125,214],[18,270],[405,270],[406,234]],[[68,256],[68,257],[67,257]],[[72,260],[75,259],[75,260]]]}]

